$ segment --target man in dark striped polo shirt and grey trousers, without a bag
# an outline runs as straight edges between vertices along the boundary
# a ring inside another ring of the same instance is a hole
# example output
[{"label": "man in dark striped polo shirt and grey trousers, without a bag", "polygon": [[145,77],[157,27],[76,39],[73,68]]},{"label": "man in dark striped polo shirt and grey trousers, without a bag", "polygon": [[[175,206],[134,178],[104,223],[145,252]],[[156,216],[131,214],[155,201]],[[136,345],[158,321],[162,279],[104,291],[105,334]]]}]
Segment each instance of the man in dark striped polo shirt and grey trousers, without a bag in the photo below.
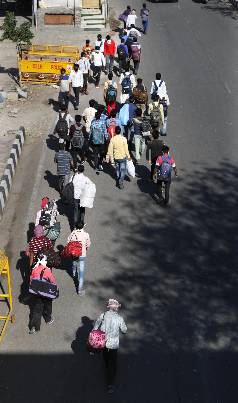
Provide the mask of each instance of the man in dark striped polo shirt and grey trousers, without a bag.
[{"label": "man in dark striped polo shirt and grey trousers, without a bag", "polygon": [[[54,162],[57,164],[56,174],[59,181],[59,193],[62,196],[62,191],[70,180],[70,171],[74,168],[72,155],[65,151],[64,143],[59,143],[59,151],[55,153]],[[64,204],[68,202],[65,200]]]}]

